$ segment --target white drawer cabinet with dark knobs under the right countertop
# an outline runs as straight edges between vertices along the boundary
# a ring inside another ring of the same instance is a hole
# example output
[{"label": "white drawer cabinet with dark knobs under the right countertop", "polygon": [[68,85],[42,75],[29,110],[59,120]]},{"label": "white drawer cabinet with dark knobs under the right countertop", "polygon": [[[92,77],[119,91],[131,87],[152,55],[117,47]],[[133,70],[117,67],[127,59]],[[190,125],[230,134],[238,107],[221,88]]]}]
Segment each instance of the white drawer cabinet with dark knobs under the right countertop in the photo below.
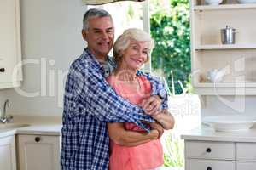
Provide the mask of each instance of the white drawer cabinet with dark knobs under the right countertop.
[{"label": "white drawer cabinet with dark knobs under the right countertop", "polygon": [[255,170],[256,143],[185,140],[185,170]]}]

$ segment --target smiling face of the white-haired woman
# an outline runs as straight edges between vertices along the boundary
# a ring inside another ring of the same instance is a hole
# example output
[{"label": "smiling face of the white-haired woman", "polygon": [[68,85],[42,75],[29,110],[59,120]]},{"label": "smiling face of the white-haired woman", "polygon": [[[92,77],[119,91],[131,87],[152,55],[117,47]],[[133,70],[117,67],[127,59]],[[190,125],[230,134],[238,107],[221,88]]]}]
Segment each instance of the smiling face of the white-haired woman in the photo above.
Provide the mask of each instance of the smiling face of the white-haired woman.
[{"label": "smiling face of the white-haired woman", "polygon": [[147,61],[148,42],[137,42],[131,40],[128,48],[125,49],[122,65],[131,70],[138,70]]}]

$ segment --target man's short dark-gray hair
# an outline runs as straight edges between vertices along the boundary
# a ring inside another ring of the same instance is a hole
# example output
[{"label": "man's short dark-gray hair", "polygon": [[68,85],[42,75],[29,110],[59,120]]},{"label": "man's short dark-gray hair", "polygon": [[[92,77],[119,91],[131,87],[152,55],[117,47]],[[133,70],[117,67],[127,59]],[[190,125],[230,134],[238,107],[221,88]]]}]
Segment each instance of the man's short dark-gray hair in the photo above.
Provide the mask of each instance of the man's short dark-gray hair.
[{"label": "man's short dark-gray hair", "polygon": [[110,17],[112,20],[111,15],[108,13],[108,11],[102,9],[102,8],[90,8],[86,11],[84,14],[83,19],[83,29],[87,30],[89,28],[89,19],[94,17]]}]

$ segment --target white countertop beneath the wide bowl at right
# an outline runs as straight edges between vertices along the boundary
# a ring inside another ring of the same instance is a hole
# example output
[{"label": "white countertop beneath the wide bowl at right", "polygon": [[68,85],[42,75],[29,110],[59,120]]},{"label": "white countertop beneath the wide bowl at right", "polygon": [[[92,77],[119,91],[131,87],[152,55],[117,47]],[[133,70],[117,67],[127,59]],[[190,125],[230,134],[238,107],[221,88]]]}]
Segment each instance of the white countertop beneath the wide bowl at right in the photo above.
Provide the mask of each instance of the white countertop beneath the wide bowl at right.
[{"label": "white countertop beneath the wide bowl at right", "polygon": [[229,141],[229,142],[256,142],[256,128],[236,132],[215,132],[211,127],[202,125],[183,133],[185,140]]}]

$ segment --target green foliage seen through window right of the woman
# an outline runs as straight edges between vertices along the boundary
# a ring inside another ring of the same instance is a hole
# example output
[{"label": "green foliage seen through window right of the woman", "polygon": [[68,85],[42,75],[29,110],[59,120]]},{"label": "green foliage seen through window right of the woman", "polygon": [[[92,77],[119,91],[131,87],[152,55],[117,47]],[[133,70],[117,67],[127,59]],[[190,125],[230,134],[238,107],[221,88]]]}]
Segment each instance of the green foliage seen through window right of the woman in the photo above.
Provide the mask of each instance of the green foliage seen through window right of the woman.
[{"label": "green foliage seen through window right of the woman", "polygon": [[162,72],[172,89],[171,71],[175,84],[175,94],[183,92],[182,84],[189,88],[190,65],[190,29],[189,0],[170,0],[163,7],[164,0],[151,0],[150,32],[155,41],[152,53],[152,68]]}]

